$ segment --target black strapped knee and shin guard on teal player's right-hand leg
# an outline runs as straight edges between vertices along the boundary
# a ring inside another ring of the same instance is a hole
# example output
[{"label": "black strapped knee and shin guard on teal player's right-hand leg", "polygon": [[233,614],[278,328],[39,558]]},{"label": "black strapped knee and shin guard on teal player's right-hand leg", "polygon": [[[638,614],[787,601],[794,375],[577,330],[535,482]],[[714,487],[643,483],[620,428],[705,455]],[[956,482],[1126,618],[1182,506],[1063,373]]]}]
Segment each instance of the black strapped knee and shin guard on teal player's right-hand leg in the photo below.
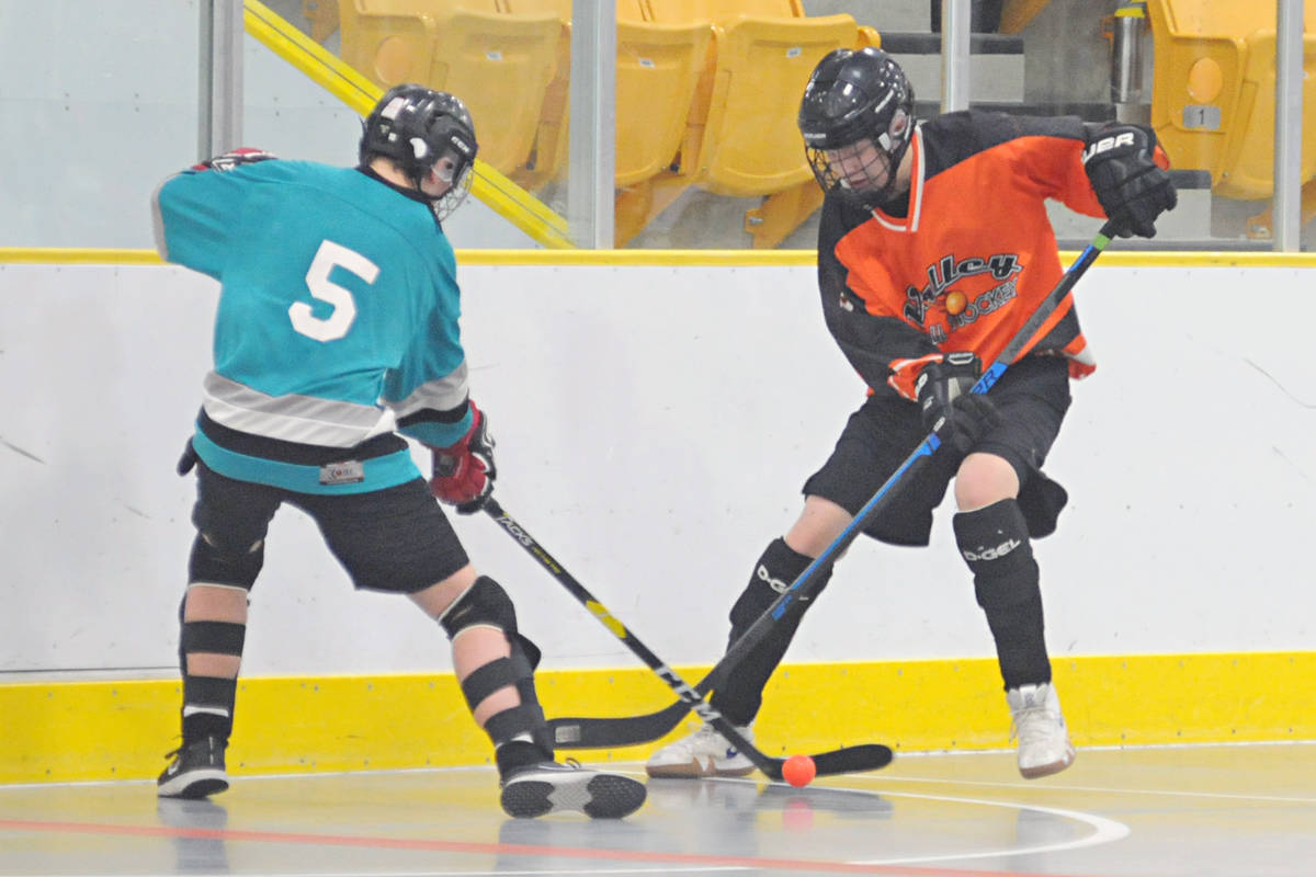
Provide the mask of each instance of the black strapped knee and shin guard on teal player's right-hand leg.
[{"label": "black strapped knee and shin guard on teal player's right-hand leg", "polygon": [[499,689],[513,686],[521,696],[521,705],[496,713],[484,722],[484,731],[501,746],[529,735],[545,751],[553,751],[544,709],[534,690],[534,668],[540,664],[540,650],[516,630],[516,607],[503,586],[488,576],[480,576],[466,593],[438,619],[449,639],[471,627],[496,627],[507,636],[512,653],[479,667],[462,680],[466,705],[475,707]]}]

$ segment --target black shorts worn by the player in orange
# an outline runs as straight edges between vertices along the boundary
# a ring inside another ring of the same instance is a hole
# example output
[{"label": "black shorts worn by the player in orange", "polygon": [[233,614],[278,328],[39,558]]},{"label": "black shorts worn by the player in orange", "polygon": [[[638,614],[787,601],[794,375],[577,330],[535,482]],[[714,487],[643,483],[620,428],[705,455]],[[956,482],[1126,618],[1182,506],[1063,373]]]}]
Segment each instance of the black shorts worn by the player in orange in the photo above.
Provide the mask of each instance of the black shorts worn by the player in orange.
[{"label": "black shorts worn by the player in orange", "polygon": [[[1059,356],[1028,356],[1009,367],[988,396],[1001,423],[974,450],[1009,462],[1019,475],[1019,504],[1029,533],[1034,538],[1049,535],[1067,496],[1041,468],[1070,406],[1069,366]],[[925,437],[917,405],[870,396],[850,415],[828,462],[804,483],[804,494],[858,514]],[[942,447],[925,465],[901,477],[865,534],[898,546],[928,544],[932,511],[945,498],[961,460]]]}]

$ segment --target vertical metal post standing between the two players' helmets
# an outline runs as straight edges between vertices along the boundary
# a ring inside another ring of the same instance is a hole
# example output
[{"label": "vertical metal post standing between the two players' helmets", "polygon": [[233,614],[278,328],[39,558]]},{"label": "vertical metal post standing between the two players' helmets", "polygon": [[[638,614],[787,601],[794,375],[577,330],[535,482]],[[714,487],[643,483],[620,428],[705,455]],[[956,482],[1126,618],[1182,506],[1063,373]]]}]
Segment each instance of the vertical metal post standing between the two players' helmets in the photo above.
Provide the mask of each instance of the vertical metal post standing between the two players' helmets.
[{"label": "vertical metal post standing between the two players' helmets", "polygon": [[575,0],[571,13],[567,224],[582,247],[613,246],[617,176],[617,4]]}]

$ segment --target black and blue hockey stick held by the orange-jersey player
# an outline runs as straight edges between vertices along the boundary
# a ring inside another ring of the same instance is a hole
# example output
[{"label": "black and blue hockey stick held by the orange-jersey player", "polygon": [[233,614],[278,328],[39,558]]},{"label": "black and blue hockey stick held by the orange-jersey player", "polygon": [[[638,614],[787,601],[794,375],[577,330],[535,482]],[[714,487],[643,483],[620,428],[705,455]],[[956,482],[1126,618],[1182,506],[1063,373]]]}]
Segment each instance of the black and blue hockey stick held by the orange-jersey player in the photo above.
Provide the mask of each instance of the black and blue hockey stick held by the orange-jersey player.
[{"label": "black and blue hockey stick held by the orange-jersey player", "polygon": [[[1101,226],[1101,230],[1096,233],[1092,242],[1087,245],[1074,264],[1065,271],[1065,275],[1059,279],[1055,287],[1046,295],[1045,298],[1037,305],[1032,316],[1028,318],[1015,337],[1011,338],[1009,343],[1001,350],[1000,355],[992,363],[991,368],[982,373],[978,383],[974,384],[974,393],[986,393],[991,389],[1005,369],[1013,363],[1013,360],[1034,341],[1034,335],[1042,329],[1048,318],[1055,312],[1055,309],[1065,301],[1070,289],[1078,283],[1079,277],[1091,267],[1096,260],[1096,256],[1105,250],[1107,245],[1111,243],[1111,238],[1115,237],[1115,227],[1111,222]],[[942,423],[937,423],[940,429]],[[817,581],[820,581],[817,572],[833,563],[833,560],[844,552],[851,542],[854,542],[861,533],[863,533],[865,526],[873,521],[874,515],[882,510],[887,502],[887,497],[891,494],[892,488],[900,479],[905,477],[911,469],[923,464],[932,454],[941,446],[941,438],[937,431],[933,430],[928,434],[919,447],[905,458],[904,463],[891,475],[887,481],[878,488],[878,492],[873,494],[859,513],[854,517],[850,525],[841,531],[841,534],[832,542],[830,546],[822,554],[817,556],[813,563],[805,567],[804,572],[796,577],[796,580],[787,588],[769,609],[759,615],[759,618],[746,630],[740,639],[732,644],[726,653],[722,655],[721,660],[699,681],[695,686],[695,692],[703,697],[711,689],[717,688],[719,682],[725,678],[725,675],[733,672],[737,665],[745,659],[745,656],[753,651],[769,631],[776,623],[776,621],[786,614],[787,606],[791,602],[801,598],[811,598],[817,593]],[[550,728],[554,735],[559,739],[559,746],[565,748],[605,748],[613,746],[632,746],[636,743],[647,743],[649,740],[657,740],[658,738],[670,732],[682,718],[691,710],[691,705],[686,699],[676,701],[675,703],[658,710],[657,713],[650,713],[647,715],[633,715],[625,718],[559,718],[549,722]]]}]

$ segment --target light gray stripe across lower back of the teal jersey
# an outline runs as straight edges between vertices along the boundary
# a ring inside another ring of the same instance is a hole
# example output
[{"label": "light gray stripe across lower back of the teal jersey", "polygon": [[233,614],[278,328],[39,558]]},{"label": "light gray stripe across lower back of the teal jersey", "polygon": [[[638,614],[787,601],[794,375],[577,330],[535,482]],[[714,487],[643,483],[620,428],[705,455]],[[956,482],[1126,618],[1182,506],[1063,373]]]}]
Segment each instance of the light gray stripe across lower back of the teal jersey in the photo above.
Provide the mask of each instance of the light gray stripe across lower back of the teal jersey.
[{"label": "light gray stripe across lower back of the teal jersey", "polygon": [[216,423],[284,442],[353,447],[391,433],[397,422],[392,412],[374,405],[299,393],[268,396],[215,372],[205,376],[203,393],[205,413]]}]

